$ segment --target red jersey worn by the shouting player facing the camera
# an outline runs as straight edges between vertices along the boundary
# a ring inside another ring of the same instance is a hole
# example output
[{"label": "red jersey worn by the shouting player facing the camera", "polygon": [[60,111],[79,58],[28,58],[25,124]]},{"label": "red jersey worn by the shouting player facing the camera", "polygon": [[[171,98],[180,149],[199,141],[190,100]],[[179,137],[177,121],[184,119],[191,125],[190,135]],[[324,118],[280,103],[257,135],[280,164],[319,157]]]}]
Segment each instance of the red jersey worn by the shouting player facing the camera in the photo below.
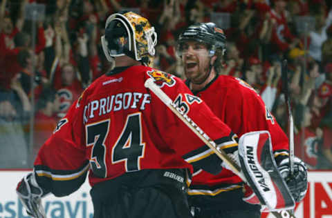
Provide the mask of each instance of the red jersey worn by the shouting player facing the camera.
[{"label": "red jersey worn by the shouting player facing the camera", "polygon": [[[190,81],[186,81],[189,86]],[[216,117],[225,122],[239,137],[246,132],[268,130],[276,159],[288,155],[288,139],[266,109],[264,101],[245,81],[217,76],[200,92],[194,92],[211,108]],[[189,195],[218,195],[221,192],[241,188],[241,179],[230,170],[219,175],[197,170],[192,177]]]}]

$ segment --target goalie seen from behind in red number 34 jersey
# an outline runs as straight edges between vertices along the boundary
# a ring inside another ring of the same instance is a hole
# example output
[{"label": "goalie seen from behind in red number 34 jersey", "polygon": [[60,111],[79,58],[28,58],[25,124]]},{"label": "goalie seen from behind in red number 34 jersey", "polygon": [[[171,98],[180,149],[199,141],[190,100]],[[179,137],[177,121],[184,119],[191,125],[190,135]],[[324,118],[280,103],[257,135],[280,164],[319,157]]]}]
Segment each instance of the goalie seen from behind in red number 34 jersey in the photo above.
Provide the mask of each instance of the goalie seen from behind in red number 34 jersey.
[{"label": "goalie seen from behind in red number 34 jersey", "polygon": [[105,28],[102,47],[116,68],[86,88],[57,123],[17,194],[29,215],[44,217],[41,198],[70,195],[89,172],[95,218],[191,217],[187,172],[196,166],[217,174],[221,159],[145,88],[145,81],[154,79],[177,98],[221,148],[232,152],[235,135],[181,79],[149,67],[157,39],[147,19],[119,12]]}]

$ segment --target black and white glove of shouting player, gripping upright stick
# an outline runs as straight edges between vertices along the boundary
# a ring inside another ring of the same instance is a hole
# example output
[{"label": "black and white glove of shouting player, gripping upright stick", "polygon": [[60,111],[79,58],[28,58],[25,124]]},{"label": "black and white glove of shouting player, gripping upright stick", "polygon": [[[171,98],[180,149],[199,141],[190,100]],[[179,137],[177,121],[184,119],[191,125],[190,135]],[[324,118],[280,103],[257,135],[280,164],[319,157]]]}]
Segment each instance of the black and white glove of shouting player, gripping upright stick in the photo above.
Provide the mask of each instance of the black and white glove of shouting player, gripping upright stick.
[{"label": "black and white glove of shouting player, gripping upright stick", "polygon": [[282,160],[278,166],[280,174],[286,181],[286,184],[291,191],[296,202],[302,201],[308,189],[308,172],[304,162],[295,157],[294,158],[294,172],[290,175],[289,159]]}]

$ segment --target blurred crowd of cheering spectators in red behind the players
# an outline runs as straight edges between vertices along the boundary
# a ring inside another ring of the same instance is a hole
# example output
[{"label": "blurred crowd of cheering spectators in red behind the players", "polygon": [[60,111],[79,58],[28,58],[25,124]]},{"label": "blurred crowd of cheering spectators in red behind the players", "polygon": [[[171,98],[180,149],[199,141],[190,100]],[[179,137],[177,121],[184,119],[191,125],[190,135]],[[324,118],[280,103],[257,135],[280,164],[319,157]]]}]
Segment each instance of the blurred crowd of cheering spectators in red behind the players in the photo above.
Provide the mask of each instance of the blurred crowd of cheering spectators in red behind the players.
[{"label": "blurred crowd of cheering spectators in red behind the players", "polygon": [[[25,8],[32,3],[46,6],[43,21],[26,19]],[[332,169],[332,10],[327,0],[1,0],[0,168],[32,166],[71,103],[113,67],[102,53],[100,36],[108,15],[120,10],[149,19],[158,33],[154,67],[183,79],[178,34],[196,22],[220,24],[228,43],[219,74],[240,77],[255,88],[285,132],[281,91],[287,59],[295,155],[311,169]],[[33,25],[36,34],[31,34]]]}]

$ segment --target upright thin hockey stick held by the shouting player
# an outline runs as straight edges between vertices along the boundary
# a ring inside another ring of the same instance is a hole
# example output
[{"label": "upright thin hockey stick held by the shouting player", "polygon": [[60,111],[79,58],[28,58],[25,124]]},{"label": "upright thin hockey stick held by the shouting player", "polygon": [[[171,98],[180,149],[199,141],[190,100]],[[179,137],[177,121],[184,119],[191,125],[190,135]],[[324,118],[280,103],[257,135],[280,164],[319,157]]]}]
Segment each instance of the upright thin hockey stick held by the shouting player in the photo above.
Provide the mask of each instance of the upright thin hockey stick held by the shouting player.
[{"label": "upright thin hockey stick held by the shouting player", "polygon": [[287,70],[287,60],[284,59],[282,62],[282,90],[285,95],[286,109],[288,114],[288,128],[289,128],[289,171],[291,176],[294,173],[294,121],[292,115],[291,102],[289,99],[288,91],[288,70]]}]

